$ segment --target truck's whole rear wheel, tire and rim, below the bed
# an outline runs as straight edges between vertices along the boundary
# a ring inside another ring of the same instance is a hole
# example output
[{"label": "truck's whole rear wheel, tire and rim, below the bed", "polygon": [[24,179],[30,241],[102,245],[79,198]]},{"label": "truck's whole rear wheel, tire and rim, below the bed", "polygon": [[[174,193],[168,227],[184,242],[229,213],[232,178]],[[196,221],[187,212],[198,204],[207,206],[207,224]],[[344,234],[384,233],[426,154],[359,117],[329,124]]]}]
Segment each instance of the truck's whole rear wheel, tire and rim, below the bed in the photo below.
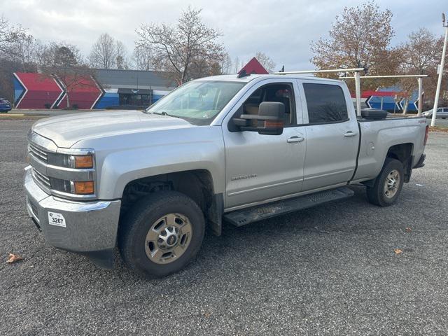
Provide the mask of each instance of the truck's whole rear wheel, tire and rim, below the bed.
[{"label": "truck's whole rear wheel, tire and rim, below the bed", "polygon": [[395,203],[400,195],[405,172],[400,161],[386,158],[383,169],[375,179],[373,187],[367,187],[367,199],[379,207]]}]

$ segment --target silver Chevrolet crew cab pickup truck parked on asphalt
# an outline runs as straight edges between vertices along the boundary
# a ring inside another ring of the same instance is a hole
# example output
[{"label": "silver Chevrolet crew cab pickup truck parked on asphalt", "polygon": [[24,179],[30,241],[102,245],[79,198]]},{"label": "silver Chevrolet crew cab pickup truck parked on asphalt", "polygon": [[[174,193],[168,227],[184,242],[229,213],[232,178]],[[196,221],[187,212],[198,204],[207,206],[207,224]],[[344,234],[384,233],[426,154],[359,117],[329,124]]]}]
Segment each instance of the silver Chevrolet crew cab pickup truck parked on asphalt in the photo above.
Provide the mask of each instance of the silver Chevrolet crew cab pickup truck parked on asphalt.
[{"label": "silver Chevrolet crew cab pickup truck parked on asphalt", "polygon": [[[356,116],[344,82],[290,75],[190,81],[145,112],[76,113],[29,132],[27,210],[52,246],[144,276],[193,260],[204,230],[353,195],[393,204],[423,167],[425,118]],[[253,224],[256,225],[256,224]]]}]

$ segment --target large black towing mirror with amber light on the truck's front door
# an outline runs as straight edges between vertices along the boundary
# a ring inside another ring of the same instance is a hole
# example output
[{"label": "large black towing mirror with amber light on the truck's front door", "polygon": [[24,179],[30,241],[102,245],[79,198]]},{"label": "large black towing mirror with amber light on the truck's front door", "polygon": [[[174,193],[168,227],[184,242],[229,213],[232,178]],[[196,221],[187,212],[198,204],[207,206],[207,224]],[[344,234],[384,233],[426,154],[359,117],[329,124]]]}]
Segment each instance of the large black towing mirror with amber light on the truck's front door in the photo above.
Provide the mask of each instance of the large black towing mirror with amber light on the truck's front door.
[{"label": "large black towing mirror with amber light on the truck's front door", "polygon": [[[283,133],[283,115],[285,105],[279,102],[262,102],[258,108],[258,115],[241,114],[233,118],[233,124],[241,131],[255,131],[258,134],[280,135]],[[251,125],[252,120],[257,127]]]}]

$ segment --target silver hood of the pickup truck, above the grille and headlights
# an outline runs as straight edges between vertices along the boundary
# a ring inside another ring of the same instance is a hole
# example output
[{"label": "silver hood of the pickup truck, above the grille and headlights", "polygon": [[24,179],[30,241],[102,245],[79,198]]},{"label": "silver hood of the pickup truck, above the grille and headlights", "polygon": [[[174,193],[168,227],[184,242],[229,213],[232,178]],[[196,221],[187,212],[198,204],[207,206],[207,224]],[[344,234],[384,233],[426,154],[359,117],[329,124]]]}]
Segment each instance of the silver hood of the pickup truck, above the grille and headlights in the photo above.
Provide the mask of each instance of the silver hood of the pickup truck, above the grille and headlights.
[{"label": "silver hood of the pickup truck, above the grille and headlights", "polygon": [[45,118],[35,123],[32,130],[58,147],[69,148],[80,140],[186,127],[195,125],[183,119],[140,111],[105,111]]}]

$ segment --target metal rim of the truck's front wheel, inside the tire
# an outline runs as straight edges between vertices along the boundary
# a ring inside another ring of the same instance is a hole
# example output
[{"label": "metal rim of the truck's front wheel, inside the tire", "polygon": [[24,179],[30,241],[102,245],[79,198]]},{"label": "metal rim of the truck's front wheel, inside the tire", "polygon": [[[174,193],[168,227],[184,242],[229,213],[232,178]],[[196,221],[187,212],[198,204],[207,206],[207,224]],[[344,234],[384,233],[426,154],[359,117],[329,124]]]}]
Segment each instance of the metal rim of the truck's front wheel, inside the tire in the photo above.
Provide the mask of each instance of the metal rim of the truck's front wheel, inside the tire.
[{"label": "metal rim of the truck's front wheel, inside the tire", "polygon": [[156,264],[179,259],[190,245],[193,227],[187,216],[167,214],[151,225],[145,238],[145,253]]}]

